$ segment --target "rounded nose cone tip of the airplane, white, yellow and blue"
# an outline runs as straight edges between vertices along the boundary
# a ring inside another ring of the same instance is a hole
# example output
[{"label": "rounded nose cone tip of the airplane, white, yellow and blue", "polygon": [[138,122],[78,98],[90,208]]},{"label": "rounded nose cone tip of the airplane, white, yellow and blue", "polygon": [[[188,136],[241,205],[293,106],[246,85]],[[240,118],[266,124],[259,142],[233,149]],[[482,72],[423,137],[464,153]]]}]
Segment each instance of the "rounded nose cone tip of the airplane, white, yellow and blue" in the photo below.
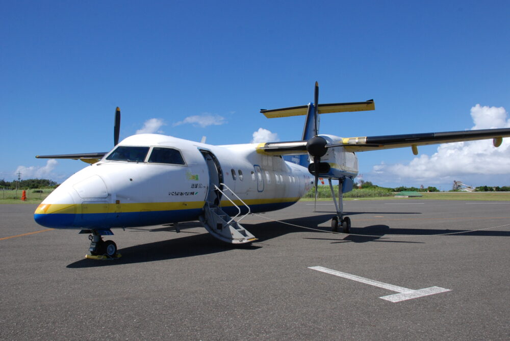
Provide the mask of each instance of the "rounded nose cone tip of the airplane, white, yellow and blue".
[{"label": "rounded nose cone tip of the airplane, white, yellow and blue", "polygon": [[35,210],[34,220],[41,226],[69,228],[73,226],[76,205],[65,190],[56,189]]}]

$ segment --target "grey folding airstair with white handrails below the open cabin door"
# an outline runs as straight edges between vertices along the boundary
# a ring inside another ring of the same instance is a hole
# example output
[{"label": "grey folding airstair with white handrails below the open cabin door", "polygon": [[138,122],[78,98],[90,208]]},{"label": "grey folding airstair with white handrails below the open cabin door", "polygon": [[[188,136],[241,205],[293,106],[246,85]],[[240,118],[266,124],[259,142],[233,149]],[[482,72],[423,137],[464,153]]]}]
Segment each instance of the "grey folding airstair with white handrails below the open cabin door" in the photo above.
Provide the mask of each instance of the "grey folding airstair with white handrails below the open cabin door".
[{"label": "grey folding airstair with white handrails below the open cabin door", "polygon": [[253,234],[246,230],[239,222],[250,214],[250,207],[244,203],[241,198],[237,196],[230,188],[224,183],[220,183],[224,190],[228,190],[232,193],[240,202],[248,207],[248,213],[241,216],[237,221],[235,220],[241,215],[241,208],[229,198],[224,191],[220,190],[218,186],[214,185],[216,190],[220,192],[224,198],[228,199],[234,207],[237,208],[238,213],[234,217],[228,216],[219,205],[215,205],[209,201],[206,201],[206,205],[203,206],[203,215],[199,217],[200,223],[205,227],[209,233],[215,238],[222,242],[230,244],[245,244],[252,243],[257,240]]}]

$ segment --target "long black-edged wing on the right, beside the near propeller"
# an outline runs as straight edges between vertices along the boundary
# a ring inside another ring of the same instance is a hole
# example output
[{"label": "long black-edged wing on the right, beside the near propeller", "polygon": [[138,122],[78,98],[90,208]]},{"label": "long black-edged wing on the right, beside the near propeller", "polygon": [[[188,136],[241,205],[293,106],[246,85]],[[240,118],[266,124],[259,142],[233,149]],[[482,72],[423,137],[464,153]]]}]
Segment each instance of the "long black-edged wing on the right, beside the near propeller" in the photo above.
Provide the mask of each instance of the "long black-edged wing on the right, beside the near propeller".
[{"label": "long black-edged wing on the right, beside the near propeller", "polygon": [[[504,137],[510,137],[510,128],[461,130],[458,132],[419,133],[402,135],[381,135],[343,138],[341,143],[328,144],[326,148],[343,146],[347,151],[368,151],[379,149],[403,148],[493,139],[494,146],[499,146]],[[257,151],[269,155],[307,154],[308,141],[269,142],[257,146]]]}]

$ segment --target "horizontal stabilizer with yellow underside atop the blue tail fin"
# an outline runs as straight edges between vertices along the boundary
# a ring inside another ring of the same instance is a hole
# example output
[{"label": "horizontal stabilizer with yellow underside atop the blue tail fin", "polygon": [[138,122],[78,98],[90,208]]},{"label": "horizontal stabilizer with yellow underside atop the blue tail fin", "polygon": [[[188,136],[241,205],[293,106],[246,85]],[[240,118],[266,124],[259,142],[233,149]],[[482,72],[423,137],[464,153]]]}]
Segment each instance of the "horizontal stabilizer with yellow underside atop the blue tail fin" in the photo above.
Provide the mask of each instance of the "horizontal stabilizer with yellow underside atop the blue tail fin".
[{"label": "horizontal stabilizer with yellow underside atop the blue tail fin", "polygon": [[[353,111],[367,111],[375,110],[375,103],[373,99],[369,99],[365,102],[350,102],[350,103],[329,103],[319,104],[318,113],[343,113]],[[275,117],[289,117],[289,116],[300,116],[308,113],[308,106],[290,107],[282,109],[261,109],[260,111],[267,118]]]}]

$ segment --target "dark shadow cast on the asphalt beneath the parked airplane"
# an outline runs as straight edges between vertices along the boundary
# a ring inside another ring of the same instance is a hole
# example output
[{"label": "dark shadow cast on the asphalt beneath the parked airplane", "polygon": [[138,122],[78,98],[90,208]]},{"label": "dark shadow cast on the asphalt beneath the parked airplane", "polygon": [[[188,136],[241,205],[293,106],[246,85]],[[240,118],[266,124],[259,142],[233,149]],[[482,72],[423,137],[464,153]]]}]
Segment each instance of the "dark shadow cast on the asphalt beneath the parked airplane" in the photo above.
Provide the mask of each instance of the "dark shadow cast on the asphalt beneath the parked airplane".
[{"label": "dark shadow cast on the asphalt beneath the parked airplane", "polygon": [[[387,213],[386,213],[387,214]],[[352,213],[349,213],[352,215]],[[95,261],[90,259],[81,259],[72,264],[69,264],[67,268],[89,268],[89,267],[100,267],[100,266],[112,266],[112,265],[120,265],[120,264],[133,264],[133,263],[145,263],[148,261],[156,261],[156,260],[167,260],[174,258],[182,258],[182,257],[191,257],[197,255],[205,255],[205,254],[213,254],[217,252],[224,252],[228,250],[232,250],[234,248],[242,248],[245,250],[256,250],[263,246],[258,245],[259,243],[263,243],[265,241],[271,240],[273,238],[281,237],[287,233],[292,232],[317,232],[324,233],[329,232],[330,228],[328,226],[319,226],[331,220],[331,214],[325,215],[314,215],[310,217],[300,217],[293,219],[285,219],[282,222],[287,224],[282,224],[280,222],[268,221],[263,223],[243,223],[243,226],[256,235],[258,241],[255,243],[256,245],[240,245],[234,246],[231,244],[226,244],[218,241],[209,233],[205,231],[203,233],[197,231],[187,231],[189,228],[200,227],[201,225],[198,222],[188,222],[182,223],[178,225],[178,229],[181,233],[186,233],[186,237],[177,237],[168,240],[163,240],[154,243],[147,243],[141,245],[135,245],[123,249],[119,249],[119,252],[122,254],[121,258],[116,260],[105,260],[105,261]],[[308,228],[291,226],[288,224],[294,224],[298,226],[307,226],[310,228],[318,229],[311,230]],[[149,228],[130,228],[127,231],[130,232],[174,232],[176,228],[174,226],[162,225],[163,227],[149,227]],[[366,227],[351,227],[352,234],[343,234],[343,233],[335,233],[329,234],[330,238],[304,238],[304,239],[314,239],[314,240],[324,240],[331,241],[331,244],[334,243],[366,243],[366,242],[390,242],[390,243],[425,243],[425,241],[395,241],[390,240],[390,237],[397,235],[409,235],[409,236],[417,236],[417,235],[434,235],[434,234],[444,234],[444,233],[454,233],[454,232],[462,232],[468,230],[450,230],[450,229],[414,229],[414,228],[390,228],[388,225],[370,225]],[[189,235],[191,234],[191,235]],[[363,235],[355,235],[355,234],[363,234]],[[483,230],[483,231],[473,231],[466,232],[461,234],[454,235],[465,235],[465,236],[493,236],[493,237],[510,237],[510,231],[493,231],[493,230]]]}]

